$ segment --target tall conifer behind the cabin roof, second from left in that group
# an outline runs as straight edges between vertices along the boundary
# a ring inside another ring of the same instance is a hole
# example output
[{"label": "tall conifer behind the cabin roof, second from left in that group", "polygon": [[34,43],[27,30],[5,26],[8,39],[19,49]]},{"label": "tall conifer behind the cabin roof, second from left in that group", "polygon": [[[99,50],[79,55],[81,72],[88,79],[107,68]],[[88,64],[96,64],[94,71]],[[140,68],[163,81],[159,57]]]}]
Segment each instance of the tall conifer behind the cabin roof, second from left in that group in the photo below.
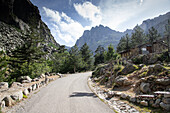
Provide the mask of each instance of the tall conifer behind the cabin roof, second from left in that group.
[{"label": "tall conifer behind the cabin roof, second from left in that group", "polygon": [[144,30],[138,25],[135,27],[134,32],[132,33],[131,42],[133,47],[146,42]]}]

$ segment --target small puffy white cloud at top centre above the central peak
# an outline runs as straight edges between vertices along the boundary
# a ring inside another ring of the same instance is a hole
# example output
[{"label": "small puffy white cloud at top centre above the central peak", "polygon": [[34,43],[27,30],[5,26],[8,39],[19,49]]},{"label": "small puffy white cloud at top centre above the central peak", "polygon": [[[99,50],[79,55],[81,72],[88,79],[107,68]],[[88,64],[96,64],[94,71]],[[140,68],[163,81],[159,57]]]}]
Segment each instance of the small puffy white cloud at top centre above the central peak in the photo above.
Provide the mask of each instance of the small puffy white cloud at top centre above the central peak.
[{"label": "small puffy white cloud at top centre above the central peak", "polygon": [[76,3],[74,4],[74,8],[79,15],[91,21],[92,26],[101,23],[102,17],[100,8],[93,5],[91,2],[84,2],[83,4]]}]

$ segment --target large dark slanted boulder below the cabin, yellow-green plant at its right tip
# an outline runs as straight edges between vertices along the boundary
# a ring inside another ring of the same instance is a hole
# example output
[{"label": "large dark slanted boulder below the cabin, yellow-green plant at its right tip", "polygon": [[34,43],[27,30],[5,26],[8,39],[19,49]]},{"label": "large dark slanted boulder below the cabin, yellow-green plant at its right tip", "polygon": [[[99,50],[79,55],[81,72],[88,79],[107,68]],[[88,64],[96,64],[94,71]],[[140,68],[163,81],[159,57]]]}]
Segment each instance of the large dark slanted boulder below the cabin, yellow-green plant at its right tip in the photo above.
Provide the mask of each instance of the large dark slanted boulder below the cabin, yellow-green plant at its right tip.
[{"label": "large dark slanted boulder below the cabin, yellow-green plant at its right tip", "polygon": [[138,67],[136,65],[133,65],[133,64],[127,64],[125,66],[125,68],[121,71],[121,74],[123,75],[126,75],[126,74],[129,74],[133,71],[135,71]]}]

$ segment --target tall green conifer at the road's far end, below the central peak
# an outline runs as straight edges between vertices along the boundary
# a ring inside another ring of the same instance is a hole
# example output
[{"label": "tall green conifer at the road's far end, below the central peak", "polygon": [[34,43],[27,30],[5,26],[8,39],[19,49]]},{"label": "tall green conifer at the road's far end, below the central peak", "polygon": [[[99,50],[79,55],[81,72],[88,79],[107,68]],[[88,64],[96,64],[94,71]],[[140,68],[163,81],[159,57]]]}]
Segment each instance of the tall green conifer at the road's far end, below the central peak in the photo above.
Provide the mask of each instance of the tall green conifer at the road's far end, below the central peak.
[{"label": "tall green conifer at the road's far end, below the central peak", "polygon": [[84,62],[84,69],[83,70],[90,70],[93,66],[93,57],[91,50],[89,50],[89,46],[87,43],[85,43],[81,48],[80,48],[80,53],[82,56],[82,60]]}]

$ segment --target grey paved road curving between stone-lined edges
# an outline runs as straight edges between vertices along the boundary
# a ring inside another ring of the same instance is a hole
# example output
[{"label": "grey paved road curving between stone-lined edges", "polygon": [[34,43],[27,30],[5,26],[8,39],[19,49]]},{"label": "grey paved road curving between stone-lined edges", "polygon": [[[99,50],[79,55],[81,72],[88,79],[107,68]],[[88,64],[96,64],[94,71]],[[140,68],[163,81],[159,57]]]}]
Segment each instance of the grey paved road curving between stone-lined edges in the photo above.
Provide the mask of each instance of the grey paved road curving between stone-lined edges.
[{"label": "grey paved road curving between stone-lined edges", "polygon": [[87,85],[91,72],[58,79],[34,94],[16,113],[114,113]]}]

